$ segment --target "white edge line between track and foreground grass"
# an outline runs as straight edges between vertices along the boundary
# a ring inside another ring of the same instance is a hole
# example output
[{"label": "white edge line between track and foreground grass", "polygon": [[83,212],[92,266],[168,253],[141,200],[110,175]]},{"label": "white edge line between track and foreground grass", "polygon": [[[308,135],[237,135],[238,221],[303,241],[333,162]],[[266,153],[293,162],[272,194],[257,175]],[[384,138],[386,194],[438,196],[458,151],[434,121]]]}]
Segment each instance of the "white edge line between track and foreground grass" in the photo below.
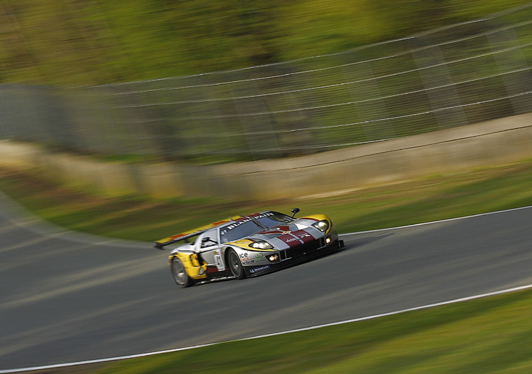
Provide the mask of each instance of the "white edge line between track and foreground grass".
[{"label": "white edge line between track and foreground grass", "polygon": [[332,322],[330,324],[321,324],[321,325],[309,326],[309,327],[304,327],[304,328],[296,328],[294,330],[280,331],[278,333],[269,333],[269,334],[264,334],[264,335],[251,336],[249,338],[241,338],[241,339],[235,339],[235,340],[226,340],[224,342],[212,342],[212,343],[207,343],[207,344],[202,344],[202,345],[193,345],[191,347],[167,349],[165,351],[158,351],[158,352],[131,354],[130,356],[110,357],[108,359],[94,359],[94,360],[69,362],[69,363],[57,363],[55,365],[47,365],[47,366],[35,366],[35,367],[32,367],[32,368],[18,368],[18,369],[0,370],[0,374],[20,373],[22,371],[31,371],[31,370],[45,370],[45,369],[54,369],[54,368],[66,368],[66,367],[69,367],[69,366],[85,365],[85,364],[89,364],[89,363],[104,363],[104,362],[119,361],[119,360],[126,360],[126,359],[138,359],[140,357],[154,356],[155,354],[180,352],[180,351],[187,351],[187,350],[190,350],[190,349],[196,349],[196,348],[202,348],[202,347],[210,347],[212,345],[218,345],[218,344],[222,344],[222,343],[225,343],[225,342],[241,342],[241,341],[244,341],[244,340],[253,340],[253,339],[267,338],[269,336],[285,335],[285,334],[288,334],[288,333],[297,333],[297,332],[300,332],[300,331],[315,330],[316,328],[322,328],[322,327],[328,327],[328,326],[337,326],[337,325],[342,325],[342,324],[350,324],[352,322],[359,322],[359,321],[367,321],[368,319],[377,319],[377,318],[381,318],[381,317],[388,317],[388,316],[393,316],[395,314],[401,314],[401,313],[406,313],[406,312],[414,312],[416,310],[428,309],[430,307],[440,307],[440,306],[443,306],[443,305],[461,303],[463,301],[476,300],[476,299],[479,299],[479,298],[486,298],[486,297],[489,297],[489,296],[497,296],[497,295],[502,295],[503,293],[511,293],[511,292],[516,292],[516,291],[523,291],[523,290],[526,290],[526,289],[532,289],[532,284],[527,284],[526,286],[518,286],[518,287],[513,287],[511,289],[504,289],[504,290],[494,291],[494,292],[489,292],[489,293],[482,293],[482,294],[476,295],[476,296],[468,296],[468,297],[465,297],[465,298],[457,298],[457,299],[454,299],[454,300],[442,301],[441,303],[422,305],[422,306],[419,306],[419,307],[411,307],[411,308],[408,308],[408,309],[397,310],[395,312],[374,314],[372,316],[367,316],[367,317],[360,317],[360,318],[355,318],[355,319],[347,319],[345,321]]}]

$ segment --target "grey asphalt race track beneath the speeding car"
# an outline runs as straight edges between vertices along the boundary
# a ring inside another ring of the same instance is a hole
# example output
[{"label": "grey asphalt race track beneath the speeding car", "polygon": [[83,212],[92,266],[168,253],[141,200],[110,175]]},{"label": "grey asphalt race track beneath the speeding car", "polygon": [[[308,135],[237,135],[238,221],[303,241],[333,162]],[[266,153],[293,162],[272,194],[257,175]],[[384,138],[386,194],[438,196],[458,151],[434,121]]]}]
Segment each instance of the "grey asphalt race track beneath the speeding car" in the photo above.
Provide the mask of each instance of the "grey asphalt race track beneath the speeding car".
[{"label": "grey asphalt race track beneath the speeding car", "polygon": [[346,248],[325,258],[181,289],[167,251],[13,219],[20,215],[4,203],[0,370],[232,340],[532,284],[532,208],[347,235]]}]

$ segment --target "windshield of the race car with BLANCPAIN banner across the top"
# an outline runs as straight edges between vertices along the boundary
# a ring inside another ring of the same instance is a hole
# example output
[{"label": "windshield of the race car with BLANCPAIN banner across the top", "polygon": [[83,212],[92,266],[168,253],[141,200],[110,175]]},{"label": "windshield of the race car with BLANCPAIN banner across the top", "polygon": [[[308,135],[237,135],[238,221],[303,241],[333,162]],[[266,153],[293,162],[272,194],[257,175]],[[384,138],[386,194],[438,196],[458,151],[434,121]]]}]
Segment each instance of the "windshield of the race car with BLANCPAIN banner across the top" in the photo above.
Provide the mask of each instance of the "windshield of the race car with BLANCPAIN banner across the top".
[{"label": "windshield of the race car with BLANCPAIN banner across the top", "polygon": [[288,223],[293,220],[292,217],[287,216],[286,214],[267,212],[254,216],[253,218],[236,221],[235,223],[231,223],[230,225],[221,228],[220,237],[222,243],[233,242],[242,237],[279,226],[279,223]]}]

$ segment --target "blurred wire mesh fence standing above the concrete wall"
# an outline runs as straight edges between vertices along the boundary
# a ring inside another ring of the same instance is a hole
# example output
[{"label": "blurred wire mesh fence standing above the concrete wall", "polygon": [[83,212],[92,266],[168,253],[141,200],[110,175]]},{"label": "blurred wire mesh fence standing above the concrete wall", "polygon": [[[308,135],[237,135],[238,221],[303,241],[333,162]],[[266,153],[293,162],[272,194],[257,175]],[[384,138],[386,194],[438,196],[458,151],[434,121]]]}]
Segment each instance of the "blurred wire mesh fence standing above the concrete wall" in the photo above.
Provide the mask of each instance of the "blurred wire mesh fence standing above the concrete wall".
[{"label": "blurred wire mesh fence standing above the concrete wall", "polygon": [[280,158],[532,111],[532,4],[344,53],[153,81],[0,86],[0,137],[80,153]]}]

